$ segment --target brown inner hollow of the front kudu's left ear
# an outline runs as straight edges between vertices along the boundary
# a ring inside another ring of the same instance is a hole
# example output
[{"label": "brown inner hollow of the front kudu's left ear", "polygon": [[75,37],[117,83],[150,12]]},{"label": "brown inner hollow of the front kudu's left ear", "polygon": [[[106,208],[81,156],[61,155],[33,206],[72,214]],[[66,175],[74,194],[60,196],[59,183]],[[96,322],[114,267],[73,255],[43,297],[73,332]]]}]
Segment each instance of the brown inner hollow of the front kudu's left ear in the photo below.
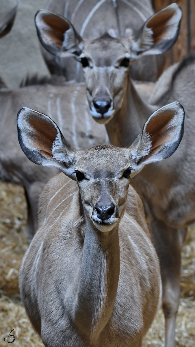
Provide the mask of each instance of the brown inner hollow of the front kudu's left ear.
[{"label": "brown inner hollow of the front kudu's left ear", "polygon": [[36,116],[31,117],[28,123],[31,129],[29,145],[41,150],[41,154],[50,159],[52,144],[57,136],[56,128],[49,121]]}]

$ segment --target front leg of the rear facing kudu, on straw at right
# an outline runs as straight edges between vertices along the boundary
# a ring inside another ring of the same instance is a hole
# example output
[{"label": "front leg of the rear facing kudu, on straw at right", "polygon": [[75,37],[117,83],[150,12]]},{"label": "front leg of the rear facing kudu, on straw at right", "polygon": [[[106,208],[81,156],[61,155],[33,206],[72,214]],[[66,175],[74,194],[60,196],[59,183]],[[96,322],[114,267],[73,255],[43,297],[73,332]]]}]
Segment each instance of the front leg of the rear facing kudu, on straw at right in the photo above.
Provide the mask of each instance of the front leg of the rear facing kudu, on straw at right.
[{"label": "front leg of the rear facing kudu, on straw at right", "polygon": [[181,247],[186,229],[174,229],[164,222],[150,218],[150,227],[160,260],[162,278],[162,308],[165,316],[165,346],[175,346],[176,315],[180,295]]}]

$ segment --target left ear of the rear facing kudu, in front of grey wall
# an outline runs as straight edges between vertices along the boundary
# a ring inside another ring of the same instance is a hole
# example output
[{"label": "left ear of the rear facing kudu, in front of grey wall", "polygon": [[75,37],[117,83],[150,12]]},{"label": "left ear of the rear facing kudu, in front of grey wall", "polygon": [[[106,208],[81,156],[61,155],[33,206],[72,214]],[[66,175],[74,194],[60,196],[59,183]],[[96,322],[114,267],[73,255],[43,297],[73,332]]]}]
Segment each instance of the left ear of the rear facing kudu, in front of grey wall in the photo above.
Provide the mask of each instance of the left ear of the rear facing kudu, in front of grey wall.
[{"label": "left ear of the rear facing kudu, in front of grey wall", "polygon": [[82,38],[68,19],[47,10],[39,10],[35,15],[37,35],[43,47],[51,54],[65,57],[79,55]]}]

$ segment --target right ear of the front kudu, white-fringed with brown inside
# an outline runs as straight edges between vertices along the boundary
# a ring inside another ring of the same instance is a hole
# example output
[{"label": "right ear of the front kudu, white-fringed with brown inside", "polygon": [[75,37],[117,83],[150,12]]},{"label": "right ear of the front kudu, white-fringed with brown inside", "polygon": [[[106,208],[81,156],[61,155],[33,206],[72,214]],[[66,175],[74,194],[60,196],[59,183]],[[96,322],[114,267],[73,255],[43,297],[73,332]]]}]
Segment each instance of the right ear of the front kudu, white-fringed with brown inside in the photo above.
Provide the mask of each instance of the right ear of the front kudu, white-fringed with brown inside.
[{"label": "right ear of the front kudu, white-fringed with brown inside", "polygon": [[133,159],[131,177],[146,164],[171,156],[183,134],[184,108],[179,102],[172,102],[155,111],[129,148]]}]

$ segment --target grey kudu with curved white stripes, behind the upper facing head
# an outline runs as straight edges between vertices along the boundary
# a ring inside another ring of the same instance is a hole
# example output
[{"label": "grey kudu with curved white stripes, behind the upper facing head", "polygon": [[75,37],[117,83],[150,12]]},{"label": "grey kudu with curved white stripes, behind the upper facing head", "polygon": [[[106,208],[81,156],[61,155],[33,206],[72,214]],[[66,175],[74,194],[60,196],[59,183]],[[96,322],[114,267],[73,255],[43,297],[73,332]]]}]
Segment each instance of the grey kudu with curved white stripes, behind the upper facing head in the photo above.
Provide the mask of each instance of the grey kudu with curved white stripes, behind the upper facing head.
[{"label": "grey kudu with curved white stripes, behind the upper facing head", "polygon": [[[97,39],[106,32],[116,37],[135,34],[154,10],[150,0],[50,0],[46,9],[66,17],[85,39]],[[84,81],[83,71],[73,57],[54,57],[42,48],[52,74],[67,80]],[[68,54],[67,54],[68,55]],[[131,76],[141,81],[153,81],[161,75],[164,55],[142,57],[130,69]]]}]

